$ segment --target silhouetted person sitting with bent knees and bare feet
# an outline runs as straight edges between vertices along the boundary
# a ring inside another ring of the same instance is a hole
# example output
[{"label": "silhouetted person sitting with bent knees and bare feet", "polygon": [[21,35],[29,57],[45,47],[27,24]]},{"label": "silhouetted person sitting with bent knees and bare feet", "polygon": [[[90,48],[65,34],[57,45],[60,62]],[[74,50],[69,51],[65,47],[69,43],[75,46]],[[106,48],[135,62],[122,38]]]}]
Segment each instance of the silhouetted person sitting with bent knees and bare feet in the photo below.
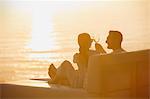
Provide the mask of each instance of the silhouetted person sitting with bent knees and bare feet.
[{"label": "silhouetted person sitting with bent knees and bare feet", "polygon": [[92,42],[93,39],[91,39],[88,33],[79,34],[79,53],[76,53],[73,56],[73,62],[78,65],[78,70],[75,70],[72,64],[67,60],[65,60],[57,69],[51,64],[48,72],[51,77],[49,83],[83,87],[89,56],[97,53],[106,53],[98,43],[95,44],[96,51],[90,50]]}]

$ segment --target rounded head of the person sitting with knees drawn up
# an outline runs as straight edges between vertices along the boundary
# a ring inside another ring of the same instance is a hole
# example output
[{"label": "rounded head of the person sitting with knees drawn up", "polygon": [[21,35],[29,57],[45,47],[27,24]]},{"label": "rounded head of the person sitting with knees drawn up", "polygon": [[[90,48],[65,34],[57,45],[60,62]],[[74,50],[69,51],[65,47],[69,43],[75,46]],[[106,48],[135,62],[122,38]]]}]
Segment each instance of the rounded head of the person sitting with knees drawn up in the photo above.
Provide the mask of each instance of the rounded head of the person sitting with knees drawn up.
[{"label": "rounded head of the person sitting with knees drawn up", "polygon": [[80,48],[89,49],[92,44],[92,39],[88,33],[81,33],[78,36],[78,44]]}]

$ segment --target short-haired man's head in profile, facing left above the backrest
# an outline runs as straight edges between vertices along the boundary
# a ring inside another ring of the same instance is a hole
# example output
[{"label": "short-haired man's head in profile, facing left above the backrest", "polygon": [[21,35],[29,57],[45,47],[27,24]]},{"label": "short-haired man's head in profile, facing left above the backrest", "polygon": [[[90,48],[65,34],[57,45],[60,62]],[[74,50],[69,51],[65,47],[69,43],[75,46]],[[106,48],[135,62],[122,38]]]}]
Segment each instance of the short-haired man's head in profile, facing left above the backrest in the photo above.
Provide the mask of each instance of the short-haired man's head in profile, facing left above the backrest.
[{"label": "short-haired man's head in profile, facing left above the backrest", "polygon": [[108,44],[108,49],[118,49],[121,48],[121,43],[123,40],[123,36],[119,31],[109,31],[109,35],[107,37],[106,43]]}]

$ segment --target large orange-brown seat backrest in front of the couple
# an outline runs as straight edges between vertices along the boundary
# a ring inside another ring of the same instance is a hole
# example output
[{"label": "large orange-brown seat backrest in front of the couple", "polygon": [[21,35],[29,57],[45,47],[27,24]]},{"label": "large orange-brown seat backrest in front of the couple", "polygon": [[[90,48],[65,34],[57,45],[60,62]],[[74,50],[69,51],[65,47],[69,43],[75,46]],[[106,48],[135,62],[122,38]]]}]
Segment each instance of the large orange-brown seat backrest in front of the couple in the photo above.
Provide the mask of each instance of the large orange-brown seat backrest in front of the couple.
[{"label": "large orange-brown seat backrest in front of the couple", "polygon": [[150,50],[91,56],[85,88],[100,96],[147,97],[149,62]]}]

